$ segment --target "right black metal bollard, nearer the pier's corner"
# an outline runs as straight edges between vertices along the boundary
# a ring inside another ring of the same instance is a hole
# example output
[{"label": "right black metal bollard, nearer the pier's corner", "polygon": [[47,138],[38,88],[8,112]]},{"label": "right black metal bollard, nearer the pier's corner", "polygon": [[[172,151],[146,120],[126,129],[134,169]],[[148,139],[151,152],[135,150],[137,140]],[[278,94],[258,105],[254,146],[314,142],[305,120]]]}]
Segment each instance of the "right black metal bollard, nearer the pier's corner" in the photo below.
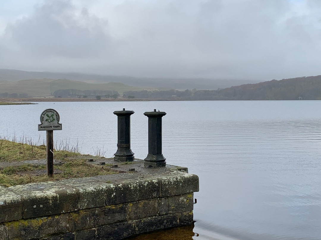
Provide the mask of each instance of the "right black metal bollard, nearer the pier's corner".
[{"label": "right black metal bollard, nearer the pier's corner", "polygon": [[161,147],[161,118],[165,116],[165,112],[145,112],[145,116],[148,116],[148,155],[144,159],[145,167],[165,167],[166,158],[162,154]]}]

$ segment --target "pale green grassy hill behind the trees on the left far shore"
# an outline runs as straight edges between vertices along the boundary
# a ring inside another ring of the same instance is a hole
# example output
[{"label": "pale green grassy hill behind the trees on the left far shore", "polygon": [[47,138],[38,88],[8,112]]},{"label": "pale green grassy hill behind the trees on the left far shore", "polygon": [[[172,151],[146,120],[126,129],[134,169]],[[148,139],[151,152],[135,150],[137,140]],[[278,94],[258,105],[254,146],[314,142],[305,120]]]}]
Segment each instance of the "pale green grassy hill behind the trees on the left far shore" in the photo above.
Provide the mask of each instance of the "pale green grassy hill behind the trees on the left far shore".
[{"label": "pale green grassy hill behind the trees on the left far shore", "polygon": [[[67,79],[28,79],[21,81],[0,80],[0,98],[43,97],[54,95],[57,90],[101,90],[123,94],[124,91],[143,90],[120,82],[93,84]],[[96,93],[99,93],[96,91]],[[113,93],[114,94],[114,93]],[[98,95],[98,94],[97,94]]]}]

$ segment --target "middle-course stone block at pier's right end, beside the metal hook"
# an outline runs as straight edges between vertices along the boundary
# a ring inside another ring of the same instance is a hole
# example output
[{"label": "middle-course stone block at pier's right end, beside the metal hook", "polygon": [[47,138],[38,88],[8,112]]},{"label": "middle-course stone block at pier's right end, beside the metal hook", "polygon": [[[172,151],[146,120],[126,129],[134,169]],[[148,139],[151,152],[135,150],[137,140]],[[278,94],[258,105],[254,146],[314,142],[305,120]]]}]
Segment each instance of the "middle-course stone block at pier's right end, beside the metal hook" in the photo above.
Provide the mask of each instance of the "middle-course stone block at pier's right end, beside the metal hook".
[{"label": "middle-course stone block at pier's right end, beside the metal hook", "polygon": [[159,214],[171,214],[193,210],[193,193],[159,198]]}]

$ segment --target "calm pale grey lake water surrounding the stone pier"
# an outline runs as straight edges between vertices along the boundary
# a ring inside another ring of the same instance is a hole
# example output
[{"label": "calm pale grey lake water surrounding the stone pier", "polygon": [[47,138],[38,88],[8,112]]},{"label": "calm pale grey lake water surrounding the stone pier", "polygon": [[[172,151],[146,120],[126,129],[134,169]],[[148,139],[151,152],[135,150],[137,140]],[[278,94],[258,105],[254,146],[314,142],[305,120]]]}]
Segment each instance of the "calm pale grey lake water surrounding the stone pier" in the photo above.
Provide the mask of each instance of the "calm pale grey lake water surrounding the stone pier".
[{"label": "calm pale grey lake water surrounding the stone pier", "polygon": [[147,117],[163,117],[163,155],[200,178],[195,227],[136,239],[321,239],[321,101],[43,102],[0,106],[0,135],[32,137],[46,108],[60,114],[54,140],[82,153],[116,152],[115,110],[134,110],[131,147],[148,152]]}]

